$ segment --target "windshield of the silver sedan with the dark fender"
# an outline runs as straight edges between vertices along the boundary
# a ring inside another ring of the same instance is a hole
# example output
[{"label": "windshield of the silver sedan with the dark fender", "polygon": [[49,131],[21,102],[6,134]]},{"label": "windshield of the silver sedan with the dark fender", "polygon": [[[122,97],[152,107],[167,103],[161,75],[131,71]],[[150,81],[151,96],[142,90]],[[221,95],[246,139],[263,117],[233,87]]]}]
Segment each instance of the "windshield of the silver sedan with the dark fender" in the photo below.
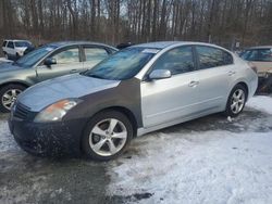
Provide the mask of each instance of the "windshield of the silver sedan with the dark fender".
[{"label": "windshield of the silver sedan with the dark fender", "polygon": [[86,76],[110,80],[124,80],[134,77],[152,58],[158,49],[127,48],[106,59]]}]

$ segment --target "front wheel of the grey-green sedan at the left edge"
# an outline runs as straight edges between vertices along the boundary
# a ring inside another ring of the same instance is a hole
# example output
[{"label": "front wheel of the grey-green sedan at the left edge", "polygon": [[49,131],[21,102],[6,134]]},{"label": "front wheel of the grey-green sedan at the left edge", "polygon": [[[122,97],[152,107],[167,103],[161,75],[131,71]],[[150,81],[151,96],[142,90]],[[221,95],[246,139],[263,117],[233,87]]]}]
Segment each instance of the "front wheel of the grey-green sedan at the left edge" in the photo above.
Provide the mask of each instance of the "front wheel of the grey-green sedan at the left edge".
[{"label": "front wheel of the grey-green sedan at the left edge", "polygon": [[[26,87],[22,85],[7,85],[0,89],[0,112],[9,113],[13,102],[17,95],[23,92]],[[10,102],[10,103],[8,103]]]}]

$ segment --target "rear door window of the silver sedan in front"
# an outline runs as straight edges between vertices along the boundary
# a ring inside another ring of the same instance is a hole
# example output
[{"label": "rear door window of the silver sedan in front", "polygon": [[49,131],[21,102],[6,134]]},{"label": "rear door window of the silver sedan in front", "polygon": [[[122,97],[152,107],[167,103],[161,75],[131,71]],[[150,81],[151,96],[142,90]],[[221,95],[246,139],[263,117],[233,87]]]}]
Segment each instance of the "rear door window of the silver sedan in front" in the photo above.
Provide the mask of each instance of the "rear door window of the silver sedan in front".
[{"label": "rear door window of the silver sedan in front", "polygon": [[196,51],[200,69],[233,64],[233,56],[224,50],[208,46],[197,46]]}]

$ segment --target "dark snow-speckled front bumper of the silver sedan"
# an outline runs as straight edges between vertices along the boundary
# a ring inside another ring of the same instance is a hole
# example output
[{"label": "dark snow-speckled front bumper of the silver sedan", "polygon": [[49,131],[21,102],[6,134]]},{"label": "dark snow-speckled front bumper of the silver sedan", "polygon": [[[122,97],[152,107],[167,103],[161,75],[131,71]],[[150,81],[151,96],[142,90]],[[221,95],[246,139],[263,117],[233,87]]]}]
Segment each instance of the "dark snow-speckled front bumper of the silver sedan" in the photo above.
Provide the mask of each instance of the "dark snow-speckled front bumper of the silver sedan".
[{"label": "dark snow-speckled front bumper of the silver sedan", "polygon": [[34,123],[9,119],[11,133],[26,152],[41,156],[81,155],[84,119]]}]

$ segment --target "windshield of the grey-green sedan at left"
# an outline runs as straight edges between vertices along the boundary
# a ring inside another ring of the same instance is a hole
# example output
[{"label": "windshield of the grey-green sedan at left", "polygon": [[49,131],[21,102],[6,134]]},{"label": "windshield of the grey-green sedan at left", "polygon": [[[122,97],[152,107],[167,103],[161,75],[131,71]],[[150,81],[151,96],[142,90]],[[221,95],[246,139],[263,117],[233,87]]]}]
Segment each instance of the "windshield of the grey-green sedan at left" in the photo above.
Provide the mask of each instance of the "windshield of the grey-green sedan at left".
[{"label": "windshield of the grey-green sedan at left", "polygon": [[44,46],[22,56],[16,62],[14,62],[14,64],[20,65],[22,67],[30,67],[35,65],[38,61],[40,61],[44,56],[46,56],[49,52],[53,51],[55,48],[57,47],[52,46]]}]

